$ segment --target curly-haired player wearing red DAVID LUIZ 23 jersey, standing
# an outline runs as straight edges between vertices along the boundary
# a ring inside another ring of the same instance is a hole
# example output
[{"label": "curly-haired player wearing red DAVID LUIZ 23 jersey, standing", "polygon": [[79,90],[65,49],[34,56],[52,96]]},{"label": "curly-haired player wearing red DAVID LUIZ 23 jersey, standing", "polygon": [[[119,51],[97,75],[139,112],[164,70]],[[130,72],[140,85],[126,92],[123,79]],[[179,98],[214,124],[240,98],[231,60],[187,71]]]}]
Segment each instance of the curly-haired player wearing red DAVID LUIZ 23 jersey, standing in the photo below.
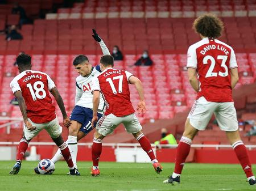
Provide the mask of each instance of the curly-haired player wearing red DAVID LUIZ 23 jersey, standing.
[{"label": "curly-haired player wearing red DAVID LUIZ 23 jersey, standing", "polygon": [[[193,23],[200,34],[199,42],[188,48],[188,78],[197,99],[185,122],[185,130],[177,147],[174,173],[164,183],[180,183],[180,175],[197,131],[205,130],[214,113],[220,129],[226,131],[230,145],[242,165],[250,185],[256,183],[247,150],[238,133],[232,89],[238,82],[237,61],[231,46],[217,40],[223,23],[216,16],[200,16]],[[198,78],[197,78],[198,76]]]}]

